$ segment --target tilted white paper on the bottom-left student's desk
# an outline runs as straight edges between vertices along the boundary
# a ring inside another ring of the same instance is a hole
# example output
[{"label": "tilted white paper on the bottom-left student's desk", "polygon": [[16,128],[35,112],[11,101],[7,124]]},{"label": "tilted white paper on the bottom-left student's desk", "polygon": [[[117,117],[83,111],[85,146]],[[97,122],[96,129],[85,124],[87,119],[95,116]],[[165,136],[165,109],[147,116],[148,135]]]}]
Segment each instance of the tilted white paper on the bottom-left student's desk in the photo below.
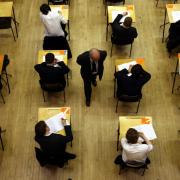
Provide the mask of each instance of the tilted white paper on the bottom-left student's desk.
[{"label": "tilted white paper on the bottom-left student's desk", "polygon": [[51,133],[56,133],[56,132],[64,129],[64,126],[61,122],[61,118],[65,118],[65,115],[63,112],[56,114],[55,116],[45,120],[46,124],[50,128]]}]

